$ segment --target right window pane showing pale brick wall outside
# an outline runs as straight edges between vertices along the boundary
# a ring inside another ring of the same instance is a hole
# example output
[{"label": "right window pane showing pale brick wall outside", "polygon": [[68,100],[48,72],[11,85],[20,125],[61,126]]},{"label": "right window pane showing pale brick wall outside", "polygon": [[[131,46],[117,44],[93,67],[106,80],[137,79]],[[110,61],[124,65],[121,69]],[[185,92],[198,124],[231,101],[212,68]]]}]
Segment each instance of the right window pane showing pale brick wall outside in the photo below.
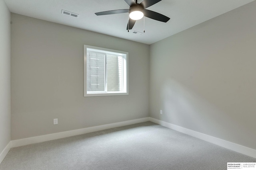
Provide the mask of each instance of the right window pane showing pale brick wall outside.
[{"label": "right window pane showing pale brick wall outside", "polygon": [[122,56],[107,55],[107,87],[108,92],[122,91]]}]

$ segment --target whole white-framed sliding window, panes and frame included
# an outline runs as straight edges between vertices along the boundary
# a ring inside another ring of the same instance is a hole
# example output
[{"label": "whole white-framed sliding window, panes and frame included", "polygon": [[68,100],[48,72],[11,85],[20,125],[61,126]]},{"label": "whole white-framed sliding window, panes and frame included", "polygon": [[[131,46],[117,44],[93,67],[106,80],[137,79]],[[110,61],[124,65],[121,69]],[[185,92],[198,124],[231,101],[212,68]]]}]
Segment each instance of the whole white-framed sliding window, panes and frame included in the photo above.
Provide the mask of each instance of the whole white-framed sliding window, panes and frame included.
[{"label": "whole white-framed sliding window, panes and frame included", "polygon": [[128,53],[84,45],[84,97],[128,94]]}]

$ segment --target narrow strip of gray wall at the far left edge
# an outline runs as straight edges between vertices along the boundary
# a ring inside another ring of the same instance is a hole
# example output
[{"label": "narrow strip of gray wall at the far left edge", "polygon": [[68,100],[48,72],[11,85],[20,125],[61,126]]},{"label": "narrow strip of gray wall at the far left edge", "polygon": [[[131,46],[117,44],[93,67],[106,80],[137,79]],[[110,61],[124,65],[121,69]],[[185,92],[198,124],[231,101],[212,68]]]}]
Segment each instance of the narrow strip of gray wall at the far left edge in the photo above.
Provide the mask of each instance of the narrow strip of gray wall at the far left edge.
[{"label": "narrow strip of gray wall at the far left edge", "polygon": [[0,154],[10,142],[10,11],[0,0]]}]

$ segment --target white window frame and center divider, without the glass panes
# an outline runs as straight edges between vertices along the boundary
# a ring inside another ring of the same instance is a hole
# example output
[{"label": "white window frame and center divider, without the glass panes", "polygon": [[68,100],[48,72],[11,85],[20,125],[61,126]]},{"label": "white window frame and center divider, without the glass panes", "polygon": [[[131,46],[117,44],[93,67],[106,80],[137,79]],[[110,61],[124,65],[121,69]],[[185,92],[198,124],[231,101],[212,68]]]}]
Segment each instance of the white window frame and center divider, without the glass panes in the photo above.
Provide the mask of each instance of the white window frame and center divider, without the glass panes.
[{"label": "white window frame and center divider, without the glass panes", "polygon": [[[109,53],[114,55],[122,55],[123,59],[123,82],[122,82],[122,92],[106,92],[106,60],[105,60],[105,91],[103,92],[89,92],[87,91],[87,50],[88,51],[97,51],[102,53]],[[118,95],[128,95],[128,52],[112,50],[112,49],[105,49],[101,47],[94,47],[90,45],[84,45],[84,97],[93,97],[93,96],[118,96]]]}]

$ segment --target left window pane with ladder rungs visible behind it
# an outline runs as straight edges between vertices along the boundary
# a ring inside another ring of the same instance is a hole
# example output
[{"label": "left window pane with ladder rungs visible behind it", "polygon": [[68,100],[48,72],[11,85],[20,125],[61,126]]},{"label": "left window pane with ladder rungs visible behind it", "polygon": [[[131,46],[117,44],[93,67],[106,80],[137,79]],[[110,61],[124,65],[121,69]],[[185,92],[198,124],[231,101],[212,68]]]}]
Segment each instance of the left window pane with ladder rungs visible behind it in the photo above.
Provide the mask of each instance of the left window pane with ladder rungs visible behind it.
[{"label": "left window pane with ladder rungs visible behind it", "polygon": [[105,55],[87,52],[87,91],[105,90]]}]

